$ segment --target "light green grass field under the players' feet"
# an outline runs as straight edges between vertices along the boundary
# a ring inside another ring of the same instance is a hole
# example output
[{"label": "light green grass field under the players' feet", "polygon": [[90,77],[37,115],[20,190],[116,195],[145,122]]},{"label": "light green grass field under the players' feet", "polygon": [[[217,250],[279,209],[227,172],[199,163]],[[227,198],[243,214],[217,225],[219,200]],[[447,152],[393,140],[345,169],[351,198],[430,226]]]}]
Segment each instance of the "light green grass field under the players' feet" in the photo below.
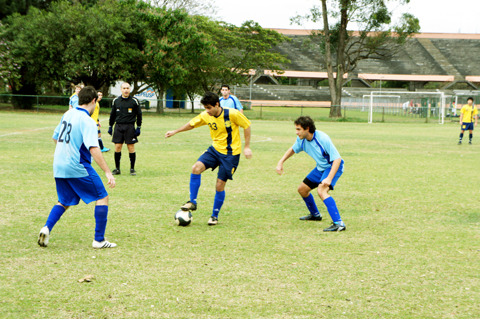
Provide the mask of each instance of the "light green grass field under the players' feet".
[{"label": "light green grass field under the players' feet", "polygon": [[216,179],[207,171],[182,228],[173,215],[209,133],[166,140],[188,117],[146,116],[138,175],[109,190],[106,235],[118,247],[97,251],[93,204],[68,210],[47,248],[36,243],[56,202],[51,136],[61,115],[0,115],[1,318],[480,316],[478,132],[458,146],[458,125],[318,122],[345,160],[331,195],[347,231],[332,234],[322,232],[330,218],[318,196],[324,221],[298,220],[307,210],[296,189],[313,160],[296,155],[275,173],[292,122],[254,120],[253,158],[242,156],[227,183],[219,225],[206,225]]}]

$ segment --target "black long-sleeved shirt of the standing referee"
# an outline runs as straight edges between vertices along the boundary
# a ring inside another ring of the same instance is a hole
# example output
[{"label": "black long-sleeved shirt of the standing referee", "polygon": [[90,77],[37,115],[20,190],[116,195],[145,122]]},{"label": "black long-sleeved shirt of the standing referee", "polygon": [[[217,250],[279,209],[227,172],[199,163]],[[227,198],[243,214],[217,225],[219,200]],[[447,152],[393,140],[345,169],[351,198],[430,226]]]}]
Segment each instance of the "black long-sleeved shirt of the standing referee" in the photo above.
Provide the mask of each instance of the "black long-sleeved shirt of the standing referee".
[{"label": "black long-sleeved shirt of the standing referee", "polygon": [[113,100],[110,126],[113,126],[115,122],[117,124],[134,124],[135,121],[137,126],[142,126],[142,110],[136,98],[119,96]]}]

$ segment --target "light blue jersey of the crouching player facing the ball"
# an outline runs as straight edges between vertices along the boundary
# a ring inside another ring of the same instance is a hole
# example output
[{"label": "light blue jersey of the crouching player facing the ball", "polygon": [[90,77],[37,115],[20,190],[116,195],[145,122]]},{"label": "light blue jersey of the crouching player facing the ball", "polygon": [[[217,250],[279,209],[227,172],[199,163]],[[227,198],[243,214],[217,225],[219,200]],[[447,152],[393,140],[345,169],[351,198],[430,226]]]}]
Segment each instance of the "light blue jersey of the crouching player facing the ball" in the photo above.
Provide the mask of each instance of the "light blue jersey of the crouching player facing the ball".
[{"label": "light blue jersey of the crouching player facing the ball", "polygon": [[333,161],[341,158],[330,137],[321,131],[315,131],[311,141],[297,137],[292,149],[297,154],[305,151],[313,157],[317,162],[317,169],[321,172],[331,168]]}]

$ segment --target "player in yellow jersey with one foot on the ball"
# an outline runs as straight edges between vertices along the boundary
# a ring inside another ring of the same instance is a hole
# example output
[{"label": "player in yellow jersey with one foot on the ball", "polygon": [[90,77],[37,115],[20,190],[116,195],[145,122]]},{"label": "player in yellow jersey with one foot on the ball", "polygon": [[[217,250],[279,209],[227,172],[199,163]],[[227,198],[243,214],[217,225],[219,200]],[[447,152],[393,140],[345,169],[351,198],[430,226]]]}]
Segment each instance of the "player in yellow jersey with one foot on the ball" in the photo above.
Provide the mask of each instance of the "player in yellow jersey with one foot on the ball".
[{"label": "player in yellow jersey with one foot on the ball", "polygon": [[250,121],[241,112],[235,109],[222,108],[218,95],[212,92],[206,92],[200,101],[205,107],[205,111],[190,122],[177,130],[168,131],[165,138],[192,130],[196,127],[208,125],[213,145],[203,153],[197,162],[193,165],[190,175],[190,200],[181,208],[185,211],[197,209],[197,195],[201,184],[201,174],[211,168],[218,168],[215,201],[213,203],[212,216],[208,220],[208,225],[218,224],[218,213],[225,201],[225,184],[227,180],[233,179],[233,174],[237,170],[242,152],[242,141],[239,134],[239,126],[244,130],[245,146],[243,153],[247,159],[252,157],[250,150]]}]

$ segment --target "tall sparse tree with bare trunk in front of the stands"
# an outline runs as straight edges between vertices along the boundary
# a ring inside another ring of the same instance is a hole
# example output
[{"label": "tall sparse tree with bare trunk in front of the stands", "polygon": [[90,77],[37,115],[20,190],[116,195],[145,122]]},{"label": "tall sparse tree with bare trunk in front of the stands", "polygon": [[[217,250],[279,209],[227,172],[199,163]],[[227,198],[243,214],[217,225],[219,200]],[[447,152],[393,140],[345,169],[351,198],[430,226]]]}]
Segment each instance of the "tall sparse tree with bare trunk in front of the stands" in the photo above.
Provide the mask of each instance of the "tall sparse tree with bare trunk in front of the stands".
[{"label": "tall sparse tree with bare trunk in front of the stands", "polygon": [[[317,43],[324,55],[332,102],[330,117],[341,117],[344,74],[353,71],[360,60],[392,57],[420,30],[420,24],[408,13],[398,23],[392,23],[392,12],[386,6],[388,0],[335,0],[330,8],[326,0],[321,2],[321,8],[314,7],[309,15],[296,16],[292,22],[301,24],[310,20],[323,24],[323,29],[311,33],[310,41]],[[404,4],[410,0],[391,2]],[[348,31],[350,22],[356,23],[358,32]]]}]

